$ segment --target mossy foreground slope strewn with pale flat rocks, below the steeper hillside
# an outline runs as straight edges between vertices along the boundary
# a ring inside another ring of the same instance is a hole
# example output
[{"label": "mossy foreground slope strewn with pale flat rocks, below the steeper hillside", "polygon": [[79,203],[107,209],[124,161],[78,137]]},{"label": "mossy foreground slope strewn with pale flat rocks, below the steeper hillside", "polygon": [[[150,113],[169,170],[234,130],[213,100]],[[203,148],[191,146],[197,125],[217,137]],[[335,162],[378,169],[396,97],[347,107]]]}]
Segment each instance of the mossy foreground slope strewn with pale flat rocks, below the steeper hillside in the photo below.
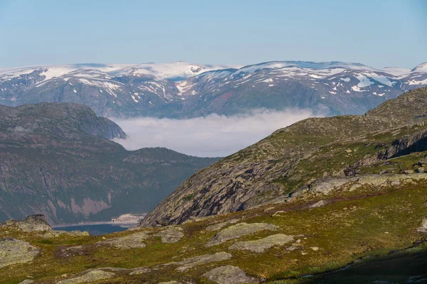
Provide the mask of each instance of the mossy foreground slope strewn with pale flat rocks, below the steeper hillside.
[{"label": "mossy foreground slope strewn with pale flat rocks, below the steeper hillside", "polygon": [[413,171],[426,154],[369,165],[292,202],[178,226],[88,236],[53,231],[42,217],[10,220],[0,224],[0,282],[425,283],[427,174]]}]

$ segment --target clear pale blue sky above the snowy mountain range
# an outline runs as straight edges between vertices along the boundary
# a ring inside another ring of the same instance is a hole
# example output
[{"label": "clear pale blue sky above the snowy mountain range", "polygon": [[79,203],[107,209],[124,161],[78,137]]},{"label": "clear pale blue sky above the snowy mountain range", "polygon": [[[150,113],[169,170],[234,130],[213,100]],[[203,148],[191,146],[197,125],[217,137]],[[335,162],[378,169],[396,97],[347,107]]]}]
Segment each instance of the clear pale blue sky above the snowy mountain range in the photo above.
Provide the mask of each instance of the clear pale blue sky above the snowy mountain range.
[{"label": "clear pale blue sky above the snowy mountain range", "polygon": [[177,60],[411,68],[426,50],[426,0],[0,0],[0,68]]}]

